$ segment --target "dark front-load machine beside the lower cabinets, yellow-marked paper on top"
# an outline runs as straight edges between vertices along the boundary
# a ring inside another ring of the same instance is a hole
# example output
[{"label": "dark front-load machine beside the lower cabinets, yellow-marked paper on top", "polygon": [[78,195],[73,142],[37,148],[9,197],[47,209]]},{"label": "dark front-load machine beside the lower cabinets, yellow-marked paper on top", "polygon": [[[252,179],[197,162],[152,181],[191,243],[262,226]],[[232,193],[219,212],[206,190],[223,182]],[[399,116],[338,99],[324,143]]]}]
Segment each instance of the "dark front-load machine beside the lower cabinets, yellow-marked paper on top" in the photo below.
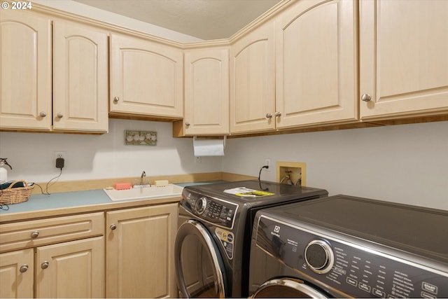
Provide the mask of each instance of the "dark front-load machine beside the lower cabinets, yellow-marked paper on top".
[{"label": "dark front-load machine beside the lower cabinets, yellow-marked paper on top", "polygon": [[174,246],[179,296],[247,297],[256,211],[327,195],[323,189],[258,180],[184,188]]}]

